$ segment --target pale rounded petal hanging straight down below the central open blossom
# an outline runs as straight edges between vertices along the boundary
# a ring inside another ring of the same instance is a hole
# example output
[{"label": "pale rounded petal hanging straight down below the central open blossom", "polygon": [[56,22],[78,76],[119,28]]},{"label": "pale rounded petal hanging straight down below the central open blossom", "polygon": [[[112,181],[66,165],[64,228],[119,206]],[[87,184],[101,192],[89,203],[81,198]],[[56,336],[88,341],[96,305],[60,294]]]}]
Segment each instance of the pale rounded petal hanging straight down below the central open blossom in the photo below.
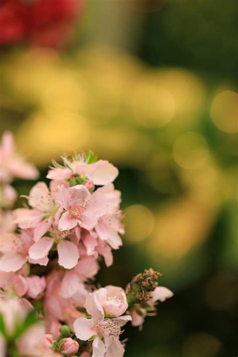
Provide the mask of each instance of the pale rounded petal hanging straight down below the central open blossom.
[{"label": "pale rounded petal hanging straight down below the central open blossom", "polygon": [[59,265],[65,269],[72,269],[78,262],[79,253],[77,246],[69,240],[62,240],[58,246]]}]

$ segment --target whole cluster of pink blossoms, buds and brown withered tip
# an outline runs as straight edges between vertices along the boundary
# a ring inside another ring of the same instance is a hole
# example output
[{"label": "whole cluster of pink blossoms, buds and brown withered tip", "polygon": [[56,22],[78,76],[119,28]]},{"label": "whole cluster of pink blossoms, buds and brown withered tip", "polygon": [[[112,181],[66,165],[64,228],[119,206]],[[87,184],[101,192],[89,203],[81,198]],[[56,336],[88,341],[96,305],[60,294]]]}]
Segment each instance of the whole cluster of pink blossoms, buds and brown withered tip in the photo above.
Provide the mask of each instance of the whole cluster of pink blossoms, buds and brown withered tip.
[{"label": "whole cluster of pink blossoms, buds and brown withered tip", "polygon": [[[13,175],[38,174],[15,154],[10,133],[4,134],[1,160],[3,188]],[[24,208],[13,211],[17,229],[2,231],[0,341],[13,355],[15,349],[31,356],[121,357],[122,327],[128,321],[142,325],[156,301],[173,294],[158,286],[160,274],[152,269],[133,278],[126,291],[95,288],[99,257],[110,266],[112,249],[122,245],[121,193],[113,185],[118,170],[91,151],[64,155],[62,162],[53,161],[49,188],[37,183],[24,196]]]}]

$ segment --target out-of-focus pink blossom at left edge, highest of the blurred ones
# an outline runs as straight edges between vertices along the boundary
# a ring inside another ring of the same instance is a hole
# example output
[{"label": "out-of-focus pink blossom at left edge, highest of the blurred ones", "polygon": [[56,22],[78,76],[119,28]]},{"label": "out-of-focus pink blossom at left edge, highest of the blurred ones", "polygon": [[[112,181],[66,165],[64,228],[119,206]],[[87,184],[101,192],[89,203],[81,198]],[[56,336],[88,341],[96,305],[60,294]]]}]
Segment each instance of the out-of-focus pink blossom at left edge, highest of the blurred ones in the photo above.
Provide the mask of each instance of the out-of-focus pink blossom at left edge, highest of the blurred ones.
[{"label": "out-of-focus pink blossom at left edge, highest of the blurred ones", "polygon": [[10,131],[3,134],[0,167],[0,182],[11,182],[13,177],[35,180],[39,176],[37,168],[16,153],[13,134]]}]

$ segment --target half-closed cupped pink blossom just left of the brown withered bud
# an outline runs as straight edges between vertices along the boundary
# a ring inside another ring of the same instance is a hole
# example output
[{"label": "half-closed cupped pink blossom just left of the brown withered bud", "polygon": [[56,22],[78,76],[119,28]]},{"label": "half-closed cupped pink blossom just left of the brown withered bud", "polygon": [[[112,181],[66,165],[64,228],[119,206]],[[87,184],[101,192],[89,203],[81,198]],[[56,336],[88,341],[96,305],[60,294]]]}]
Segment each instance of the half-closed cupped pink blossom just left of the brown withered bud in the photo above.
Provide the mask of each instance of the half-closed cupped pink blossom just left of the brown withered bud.
[{"label": "half-closed cupped pink blossom just left of the brown withered bud", "polygon": [[110,317],[118,317],[128,308],[127,296],[122,288],[108,285],[95,290],[93,294],[96,295],[97,300]]}]

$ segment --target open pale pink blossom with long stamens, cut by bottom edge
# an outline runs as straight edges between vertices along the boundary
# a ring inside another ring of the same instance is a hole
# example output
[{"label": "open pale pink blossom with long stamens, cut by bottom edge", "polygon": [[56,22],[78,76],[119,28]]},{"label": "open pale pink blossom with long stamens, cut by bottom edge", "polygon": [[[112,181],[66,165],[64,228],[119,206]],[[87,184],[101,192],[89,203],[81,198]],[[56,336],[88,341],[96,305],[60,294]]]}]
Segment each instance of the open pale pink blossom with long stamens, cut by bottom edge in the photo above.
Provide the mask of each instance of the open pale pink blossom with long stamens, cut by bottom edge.
[{"label": "open pale pink blossom with long stamens, cut by bottom edge", "polygon": [[[84,306],[92,318],[79,317],[74,322],[76,336],[84,341],[96,336],[92,343],[93,356],[103,356],[106,352],[108,356],[122,357],[124,348],[119,340],[122,333],[121,326],[124,326],[132,317],[126,315],[105,319],[103,307],[94,293],[88,294]],[[98,334],[103,336],[103,341],[98,337]]]}]

